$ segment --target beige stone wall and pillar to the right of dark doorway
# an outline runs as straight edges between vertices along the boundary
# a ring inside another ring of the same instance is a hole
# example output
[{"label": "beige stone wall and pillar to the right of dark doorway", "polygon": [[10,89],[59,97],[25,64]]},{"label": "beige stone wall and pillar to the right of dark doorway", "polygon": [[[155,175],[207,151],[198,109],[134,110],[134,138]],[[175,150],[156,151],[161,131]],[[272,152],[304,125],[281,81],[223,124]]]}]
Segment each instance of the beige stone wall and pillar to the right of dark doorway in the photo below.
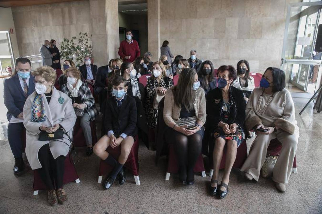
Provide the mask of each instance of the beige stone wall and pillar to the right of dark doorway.
[{"label": "beige stone wall and pillar to the right of dark doorway", "polygon": [[253,71],[279,67],[290,1],[149,0],[149,50],[158,53],[159,43],[168,40],[173,54],[189,58],[196,49],[215,67],[236,66],[240,59]]}]

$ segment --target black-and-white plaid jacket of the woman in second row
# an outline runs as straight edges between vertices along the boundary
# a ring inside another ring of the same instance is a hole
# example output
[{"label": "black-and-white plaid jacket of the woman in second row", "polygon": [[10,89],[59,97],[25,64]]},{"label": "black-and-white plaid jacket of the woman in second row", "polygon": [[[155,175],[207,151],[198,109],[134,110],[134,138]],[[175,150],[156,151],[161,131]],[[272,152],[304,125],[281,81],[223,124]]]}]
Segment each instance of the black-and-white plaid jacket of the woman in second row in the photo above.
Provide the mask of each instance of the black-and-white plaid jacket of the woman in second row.
[{"label": "black-and-white plaid jacket of the woman in second row", "polygon": [[[71,92],[68,90],[66,84],[62,85],[62,92],[67,94],[69,97],[71,97]],[[87,105],[87,108],[85,108],[85,111],[88,112],[88,114],[90,115],[90,120],[95,120],[95,116],[97,115],[95,100],[87,83],[82,83],[78,91],[78,95],[84,99],[85,101],[84,103]]]}]

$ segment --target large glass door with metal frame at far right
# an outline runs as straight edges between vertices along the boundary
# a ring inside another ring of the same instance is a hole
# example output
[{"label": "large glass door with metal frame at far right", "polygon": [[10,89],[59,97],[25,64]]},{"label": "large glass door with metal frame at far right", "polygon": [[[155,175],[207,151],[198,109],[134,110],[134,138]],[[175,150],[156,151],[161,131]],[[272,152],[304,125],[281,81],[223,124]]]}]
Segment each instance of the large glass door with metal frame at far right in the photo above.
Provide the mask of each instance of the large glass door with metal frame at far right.
[{"label": "large glass door with metal frame at far right", "polygon": [[288,6],[281,68],[285,71],[290,92],[314,94],[320,86],[321,8],[320,1]]}]

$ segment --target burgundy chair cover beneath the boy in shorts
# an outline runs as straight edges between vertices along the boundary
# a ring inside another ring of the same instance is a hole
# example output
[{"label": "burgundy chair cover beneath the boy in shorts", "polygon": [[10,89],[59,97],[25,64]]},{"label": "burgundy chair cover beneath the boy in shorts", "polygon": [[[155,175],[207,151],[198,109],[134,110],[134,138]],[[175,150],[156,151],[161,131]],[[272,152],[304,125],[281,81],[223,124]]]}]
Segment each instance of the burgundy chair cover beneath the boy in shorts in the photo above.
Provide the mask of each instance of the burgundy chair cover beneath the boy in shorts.
[{"label": "burgundy chair cover beneath the boy in shorts", "polygon": [[[118,157],[121,154],[121,147],[118,146],[115,149],[112,147],[108,147],[106,150],[115,160],[118,160]],[[134,144],[131,148],[131,152],[128,155],[128,160],[125,162],[124,167],[127,168],[133,175],[139,175],[139,159],[138,159],[138,152],[139,152],[139,141],[138,137],[136,136]],[[110,171],[113,170],[113,167],[108,165],[105,161],[100,160],[99,163],[99,176],[106,175]]]}]

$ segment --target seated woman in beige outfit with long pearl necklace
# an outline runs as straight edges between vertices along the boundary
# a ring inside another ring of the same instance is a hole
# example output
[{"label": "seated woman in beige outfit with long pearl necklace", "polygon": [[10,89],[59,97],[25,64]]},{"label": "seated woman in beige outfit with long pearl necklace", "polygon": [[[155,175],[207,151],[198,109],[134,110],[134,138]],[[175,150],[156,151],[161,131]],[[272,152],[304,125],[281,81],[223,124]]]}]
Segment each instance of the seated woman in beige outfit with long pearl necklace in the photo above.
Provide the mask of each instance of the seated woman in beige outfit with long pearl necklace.
[{"label": "seated woman in beige outfit with long pearl necklace", "polygon": [[285,192],[298,144],[298,126],[294,103],[285,89],[285,73],[279,68],[266,69],[260,87],[253,90],[246,105],[247,130],[257,129],[257,136],[241,171],[245,178],[258,181],[270,140],[277,138],[282,150],[273,170],[273,181]]}]

